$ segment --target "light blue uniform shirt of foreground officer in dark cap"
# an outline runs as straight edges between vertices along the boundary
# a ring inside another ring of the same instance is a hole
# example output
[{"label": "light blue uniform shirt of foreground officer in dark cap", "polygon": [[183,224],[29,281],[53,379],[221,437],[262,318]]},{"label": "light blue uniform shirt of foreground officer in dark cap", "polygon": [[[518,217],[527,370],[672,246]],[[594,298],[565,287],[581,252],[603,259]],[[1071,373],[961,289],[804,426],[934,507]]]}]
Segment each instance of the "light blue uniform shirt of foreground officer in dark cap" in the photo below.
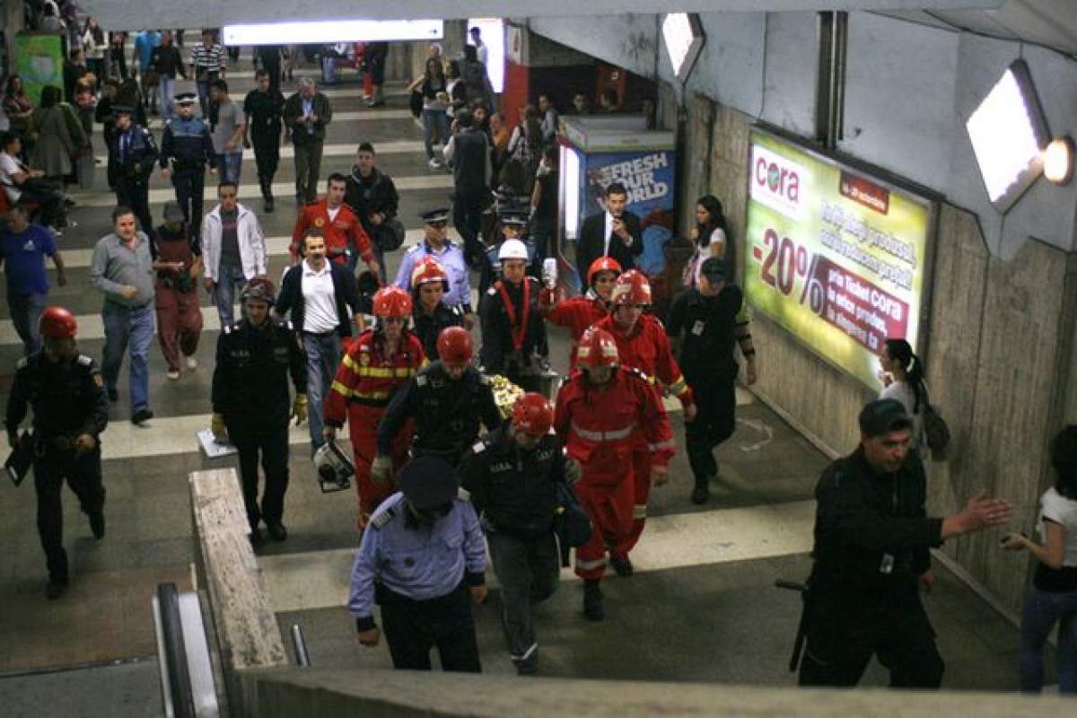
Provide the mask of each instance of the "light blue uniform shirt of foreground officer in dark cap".
[{"label": "light blue uniform shirt of foreground officer in dark cap", "polygon": [[[392,516],[384,520],[389,511]],[[412,601],[429,601],[456,590],[465,571],[481,574],[486,568],[482,530],[470,502],[456,499],[452,510],[430,526],[408,527],[404,511],[404,494],[396,492],[363,532],[348,596],[353,618],[374,615],[375,580]]]}]

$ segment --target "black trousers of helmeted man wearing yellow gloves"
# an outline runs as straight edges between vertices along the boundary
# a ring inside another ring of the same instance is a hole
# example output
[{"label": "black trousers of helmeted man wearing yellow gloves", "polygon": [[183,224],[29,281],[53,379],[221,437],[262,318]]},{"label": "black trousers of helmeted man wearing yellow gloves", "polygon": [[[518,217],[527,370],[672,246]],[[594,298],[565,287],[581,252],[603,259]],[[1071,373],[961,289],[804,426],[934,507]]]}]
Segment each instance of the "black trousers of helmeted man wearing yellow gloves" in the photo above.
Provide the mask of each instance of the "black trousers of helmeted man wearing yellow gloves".
[{"label": "black trousers of helmeted man wearing yellow gloves", "polygon": [[[233,421],[228,436],[239,451],[239,480],[243,490],[243,506],[251,527],[260,520],[277,523],[284,516],[284,492],[288,491],[288,422],[279,426],[258,426]],[[266,476],[258,506],[258,456]]]}]

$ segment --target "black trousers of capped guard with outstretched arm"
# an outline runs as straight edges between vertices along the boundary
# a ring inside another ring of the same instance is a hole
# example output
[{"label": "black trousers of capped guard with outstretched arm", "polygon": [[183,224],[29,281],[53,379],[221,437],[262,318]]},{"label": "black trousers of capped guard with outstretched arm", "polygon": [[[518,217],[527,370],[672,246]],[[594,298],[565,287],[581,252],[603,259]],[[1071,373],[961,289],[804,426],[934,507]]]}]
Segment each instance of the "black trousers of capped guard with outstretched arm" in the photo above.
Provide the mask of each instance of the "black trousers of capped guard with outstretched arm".
[{"label": "black trousers of capped guard with outstretched arm", "polygon": [[891,688],[938,688],[945,664],[917,586],[880,596],[816,589],[808,608],[801,686],[851,688],[875,654]]}]

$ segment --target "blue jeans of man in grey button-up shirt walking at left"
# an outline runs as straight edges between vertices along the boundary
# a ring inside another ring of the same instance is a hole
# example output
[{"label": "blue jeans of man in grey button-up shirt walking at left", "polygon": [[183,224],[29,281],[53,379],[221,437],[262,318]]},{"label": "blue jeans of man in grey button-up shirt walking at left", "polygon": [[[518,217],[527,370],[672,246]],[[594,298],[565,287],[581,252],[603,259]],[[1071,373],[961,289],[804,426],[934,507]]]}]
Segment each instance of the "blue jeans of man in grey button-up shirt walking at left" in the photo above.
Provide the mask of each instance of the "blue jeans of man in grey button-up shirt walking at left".
[{"label": "blue jeans of man in grey button-up shirt walking at left", "polygon": [[143,307],[124,307],[106,301],[101,309],[104,323],[104,356],[101,374],[110,392],[116,391],[124,352],[130,349],[129,380],[131,416],[150,408],[150,343],[154,329],[153,302]]}]

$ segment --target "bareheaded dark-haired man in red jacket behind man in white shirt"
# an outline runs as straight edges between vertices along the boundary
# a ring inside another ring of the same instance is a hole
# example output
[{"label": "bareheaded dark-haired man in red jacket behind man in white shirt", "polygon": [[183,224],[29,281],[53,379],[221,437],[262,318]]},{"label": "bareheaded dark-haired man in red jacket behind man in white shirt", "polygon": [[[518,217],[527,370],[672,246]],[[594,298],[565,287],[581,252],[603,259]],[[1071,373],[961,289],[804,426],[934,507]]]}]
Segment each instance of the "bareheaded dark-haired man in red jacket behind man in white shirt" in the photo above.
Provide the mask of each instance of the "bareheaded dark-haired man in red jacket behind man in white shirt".
[{"label": "bareheaded dark-haired man in red jacket behind man in white shirt", "polygon": [[348,180],[344,174],[331,174],[326,187],[324,197],[310,202],[299,211],[295,229],[292,230],[292,245],[288,248],[292,255],[292,264],[299,263],[303,238],[306,237],[308,229],[314,228],[321,229],[325,235],[326,256],[330,259],[354,271],[359,257],[362,256],[370,271],[376,277],[382,278],[381,267],[378,266],[378,259],[370,247],[370,238],[363,229],[359,217],[344,201]]}]

